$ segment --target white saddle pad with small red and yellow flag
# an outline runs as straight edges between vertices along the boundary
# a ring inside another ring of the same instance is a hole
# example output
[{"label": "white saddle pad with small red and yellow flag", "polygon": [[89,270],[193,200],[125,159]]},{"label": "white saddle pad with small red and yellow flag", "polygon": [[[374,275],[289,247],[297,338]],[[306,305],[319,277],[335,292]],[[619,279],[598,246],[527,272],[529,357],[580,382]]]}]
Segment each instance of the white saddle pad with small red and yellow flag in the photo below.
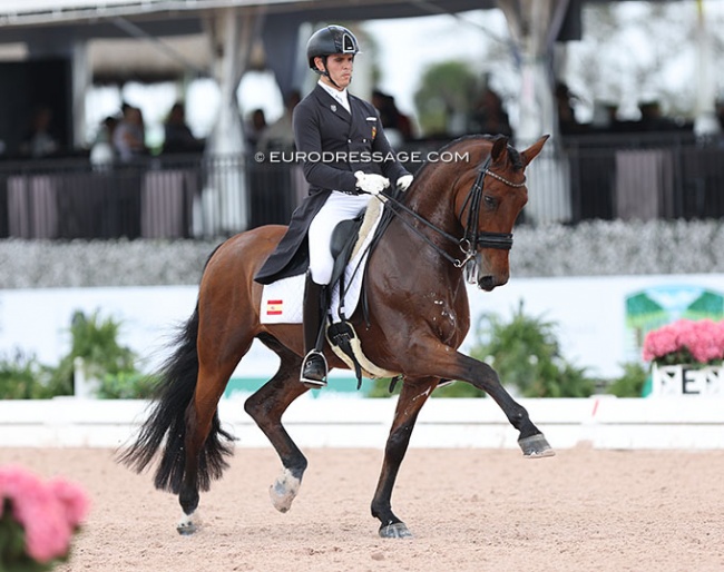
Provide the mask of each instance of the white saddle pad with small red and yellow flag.
[{"label": "white saddle pad with small red and yellow flag", "polygon": [[[360,239],[354,246],[352,258],[344,270],[344,308],[340,308],[340,286],[332,288],[330,315],[333,322],[340,320],[340,313],[350,317],[358,303],[362,289],[362,276],[368,259],[368,246],[372,241],[374,230],[382,217],[382,204],[375,198],[370,199],[364,223],[360,229]],[[303,315],[305,275],[290,276],[272,284],[264,285],[262,307],[260,308],[262,324],[301,324]]]}]

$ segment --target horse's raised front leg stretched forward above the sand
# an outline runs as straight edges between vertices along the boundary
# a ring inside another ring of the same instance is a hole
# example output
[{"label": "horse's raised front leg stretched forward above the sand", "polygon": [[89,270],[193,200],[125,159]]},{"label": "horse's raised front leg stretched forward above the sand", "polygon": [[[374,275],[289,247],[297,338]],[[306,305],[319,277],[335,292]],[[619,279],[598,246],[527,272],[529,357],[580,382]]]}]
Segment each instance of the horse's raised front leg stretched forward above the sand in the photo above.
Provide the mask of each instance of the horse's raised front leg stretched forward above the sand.
[{"label": "horse's raised front leg stretched forward above the sand", "polygon": [[417,347],[422,349],[414,352],[414,359],[410,361],[414,364],[415,371],[429,372],[442,379],[468,382],[495,400],[510,424],[518,430],[518,445],[526,457],[555,455],[544,434],[530,421],[526,408],[500,384],[498,374],[492,367],[460,352],[452,352],[449,346],[437,341],[433,347],[430,345]]}]

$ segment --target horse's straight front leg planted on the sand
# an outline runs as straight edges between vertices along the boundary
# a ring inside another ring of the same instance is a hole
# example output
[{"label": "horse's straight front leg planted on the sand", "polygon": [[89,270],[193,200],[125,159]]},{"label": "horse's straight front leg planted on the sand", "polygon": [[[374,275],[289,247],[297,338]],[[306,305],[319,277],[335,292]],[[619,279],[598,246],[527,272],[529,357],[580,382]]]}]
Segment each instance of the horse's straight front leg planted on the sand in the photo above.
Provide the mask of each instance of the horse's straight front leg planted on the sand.
[{"label": "horse's straight front leg planted on the sand", "polygon": [[392,428],[384,447],[380,480],[372,500],[372,516],[380,520],[380,536],[383,539],[412,536],[408,526],[392,512],[392,489],[408,451],[414,422],[438,382],[439,379],[430,378],[414,382],[405,379],[402,384]]}]

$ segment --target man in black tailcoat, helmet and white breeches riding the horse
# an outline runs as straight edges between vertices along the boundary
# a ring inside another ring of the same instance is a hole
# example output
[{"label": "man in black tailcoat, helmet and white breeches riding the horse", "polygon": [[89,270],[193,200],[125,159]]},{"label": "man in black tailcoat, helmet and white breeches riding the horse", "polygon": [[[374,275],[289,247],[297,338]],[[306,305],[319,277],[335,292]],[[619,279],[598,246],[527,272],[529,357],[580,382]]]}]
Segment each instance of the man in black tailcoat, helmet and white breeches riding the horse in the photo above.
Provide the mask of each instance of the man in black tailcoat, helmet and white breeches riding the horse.
[{"label": "man in black tailcoat, helmet and white breeches riding the horse", "polygon": [[[326,385],[322,326],[334,264],[330,252],[332,231],[341,220],[364,210],[368,195],[378,195],[390,186],[390,180],[400,190],[407,190],[412,183],[412,175],[390,148],[376,109],[348,92],[359,51],[356,38],[346,28],[327,26],[314,32],[306,45],[306,57],[320,79],[294,108],[293,116],[296,150],[304,161],[310,196],[292,216],[277,252],[293,255],[303,240],[299,235],[306,234],[310,267],[304,287],[305,357],[300,377],[312,388]],[[278,269],[265,265],[257,282],[265,283],[264,278]]]}]

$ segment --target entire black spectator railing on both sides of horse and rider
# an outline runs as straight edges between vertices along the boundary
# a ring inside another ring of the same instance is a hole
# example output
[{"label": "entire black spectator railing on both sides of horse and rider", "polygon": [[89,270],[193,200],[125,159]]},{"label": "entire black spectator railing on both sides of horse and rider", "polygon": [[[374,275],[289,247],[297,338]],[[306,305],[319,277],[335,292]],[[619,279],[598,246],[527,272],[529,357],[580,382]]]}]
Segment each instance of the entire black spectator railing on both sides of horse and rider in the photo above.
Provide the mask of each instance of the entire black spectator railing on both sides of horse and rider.
[{"label": "entire black spectator railing on both sides of horse and rider", "polygon": [[[437,149],[419,142],[412,149]],[[420,164],[409,165],[414,171]],[[682,134],[568,137],[528,168],[521,224],[724,217],[724,146]],[[209,238],[286,224],[301,167],[244,157],[0,162],[0,238]]]}]

